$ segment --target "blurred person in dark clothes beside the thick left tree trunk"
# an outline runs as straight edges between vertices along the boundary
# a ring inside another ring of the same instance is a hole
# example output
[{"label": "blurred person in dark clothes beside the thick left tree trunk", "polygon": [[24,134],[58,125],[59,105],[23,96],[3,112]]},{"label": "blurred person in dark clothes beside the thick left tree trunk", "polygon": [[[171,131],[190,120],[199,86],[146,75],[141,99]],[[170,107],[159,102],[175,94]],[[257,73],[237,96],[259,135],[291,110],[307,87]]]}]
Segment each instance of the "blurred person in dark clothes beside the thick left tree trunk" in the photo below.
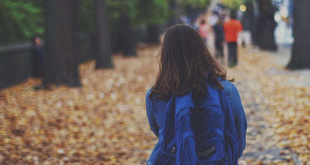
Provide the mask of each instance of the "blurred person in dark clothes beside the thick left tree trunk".
[{"label": "blurred person in dark clothes beside the thick left tree trunk", "polygon": [[31,38],[31,43],[33,47],[33,75],[42,77],[45,59],[44,51],[41,46],[42,42],[38,36],[34,36]]}]

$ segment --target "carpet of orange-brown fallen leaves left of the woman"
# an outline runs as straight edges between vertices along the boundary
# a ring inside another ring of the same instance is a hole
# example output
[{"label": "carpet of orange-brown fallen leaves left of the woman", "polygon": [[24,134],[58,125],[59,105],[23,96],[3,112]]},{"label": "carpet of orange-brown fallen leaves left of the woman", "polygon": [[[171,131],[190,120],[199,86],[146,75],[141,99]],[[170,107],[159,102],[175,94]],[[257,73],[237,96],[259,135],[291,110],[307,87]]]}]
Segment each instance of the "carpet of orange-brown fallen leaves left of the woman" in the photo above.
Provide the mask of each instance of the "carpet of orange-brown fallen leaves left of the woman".
[{"label": "carpet of orange-brown fallen leaves left of the woman", "polygon": [[34,91],[40,80],[0,92],[0,164],[145,164],[157,142],[145,93],[159,47],[113,56],[114,69],[79,67],[82,87]]}]

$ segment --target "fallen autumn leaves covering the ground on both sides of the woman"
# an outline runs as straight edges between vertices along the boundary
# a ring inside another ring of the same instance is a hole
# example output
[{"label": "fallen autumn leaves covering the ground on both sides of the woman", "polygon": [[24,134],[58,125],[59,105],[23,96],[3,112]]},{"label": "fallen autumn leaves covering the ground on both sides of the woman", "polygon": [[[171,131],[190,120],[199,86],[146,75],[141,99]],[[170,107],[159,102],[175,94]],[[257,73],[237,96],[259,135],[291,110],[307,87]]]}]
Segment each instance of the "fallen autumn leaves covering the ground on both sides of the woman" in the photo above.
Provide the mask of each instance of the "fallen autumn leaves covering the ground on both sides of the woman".
[{"label": "fallen autumn leaves covering the ground on both sides of the woman", "polygon": [[[148,126],[145,93],[158,71],[158,46],[138,57],[113,55],[113,69],[79,66],[82,87],[34,91],[28,78],[0,90],[0,164],[145,164],[157,137]],[[267,51],[240,49],[228,68],[248,120],[244,154],[283,149],[283,161],[268,155],[240,164],[293,164],[296,153],[310,164],[310,71],[286,71]],[[280,53],[281,54],[281,53]],[[307,77],[309,75],[309,77]]]}]

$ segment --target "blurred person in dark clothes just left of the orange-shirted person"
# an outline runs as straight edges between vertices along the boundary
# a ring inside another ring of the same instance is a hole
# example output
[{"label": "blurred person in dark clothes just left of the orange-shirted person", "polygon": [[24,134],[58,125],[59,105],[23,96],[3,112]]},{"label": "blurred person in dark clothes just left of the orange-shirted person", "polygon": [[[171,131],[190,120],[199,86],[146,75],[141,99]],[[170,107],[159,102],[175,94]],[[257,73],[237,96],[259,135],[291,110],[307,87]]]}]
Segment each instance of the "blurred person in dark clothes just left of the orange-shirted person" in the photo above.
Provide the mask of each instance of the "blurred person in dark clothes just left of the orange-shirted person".
[{"label": "blurred person in dark clothes just left of the orange-shirted person", "polygon": [[217,20],[216,25],[213,26],[213,31],[215,33],[215,58],[219,58],[221,62],[224,60],[224,32],[223,32],[223,22],[221,19]]}]

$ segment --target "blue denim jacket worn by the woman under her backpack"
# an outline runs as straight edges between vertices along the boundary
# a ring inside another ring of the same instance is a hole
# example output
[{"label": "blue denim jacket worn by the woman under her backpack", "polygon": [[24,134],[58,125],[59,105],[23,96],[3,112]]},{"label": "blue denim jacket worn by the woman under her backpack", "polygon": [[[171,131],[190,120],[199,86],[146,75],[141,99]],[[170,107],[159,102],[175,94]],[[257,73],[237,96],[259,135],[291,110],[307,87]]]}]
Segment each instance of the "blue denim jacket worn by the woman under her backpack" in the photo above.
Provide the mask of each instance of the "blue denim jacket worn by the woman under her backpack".
[{"label": "blue denim jacket worn by the woman under her backpack", "polygon": [[[241,157],[243,150],[246,148],[246,116],[243,110],[239,92],[236,86],[230,83],[227,80],[222,80],[220,83],[224,86],[224,93],[228,98],[230,107],[232,109],[232,117],[234,118],[239,148],[238,148],[238,159]],[[150,88],[151,89],[151,88]],[[156,96],[153,96],[150,100],[148,95],[150,89],[146,93],[145,102],[146,102],[146,114],[148,116],[148,123],[151,127],[151,130],[158,137],[158,142],[155,145],[152,154],[148,159],[147,165],[157,165],[158,164],[158,153],[160,152],[160,145],[162,142],[162,128],[164,125],[165,111],[168,104],[168,101],[157,100]]]}]

